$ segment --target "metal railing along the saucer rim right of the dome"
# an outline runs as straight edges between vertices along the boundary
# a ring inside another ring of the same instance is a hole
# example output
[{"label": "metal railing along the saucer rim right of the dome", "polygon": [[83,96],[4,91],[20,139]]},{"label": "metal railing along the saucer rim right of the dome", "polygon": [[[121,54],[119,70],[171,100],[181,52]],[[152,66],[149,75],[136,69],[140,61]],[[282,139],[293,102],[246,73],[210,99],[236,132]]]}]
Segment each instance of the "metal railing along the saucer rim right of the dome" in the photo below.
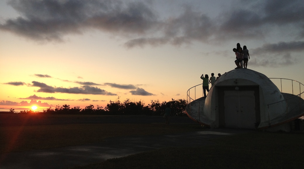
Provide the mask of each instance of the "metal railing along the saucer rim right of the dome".
[{"label": "metal railing along the saucer rim right of the dome", "polygon": [[[302,89],[301,89],[301,86],[302,86],[302,88],[304,89],[304,85],[301,83],[301,82],[299,82],[299,81],[295,81],[295,80],[292,80],[292,79],[285,79],[285,78],[269,78],[274,84],[275,84],[275,81],[273,80],[273,79],[280,79],[280,85],[276,85],[278,88],[281,88],[281,93],[283,93],[283,87],[284,87],[284,93],[288,93],[288,94],[293,94],[294,96],[292,96],[292,97],[290,97],[290,98],[287,98],[287,99],[285,99],[285,100],[282,100],[282,101],[278,101],[278,102],[275,102],[275,103],[271,103],[271,104],[267,104],[267,108],[268,108],[268,123],[269,123],[269,126],[271,125],[271,121],[270,121],[270,115],[269,115],[269,112],[270,112],[270,109],[271,109],[271,105],[273,105],[273,108],[275,108],[275,104],[280,104],[281,102],[283,102],[283,101],[287,101],[287,100],[289,100],[289,99],[292,99],[292,98],[295,98],[295,97],[299,97],[299,98],[302,98],[301,97],[301,95],[303,96],[303,93],[304,93],[304,91],[302,91]],[[291,88],[290,87],[286,87],[286,85],[288,85],[288,84],[286,84],[286,82],[283,82],[283,83],[285,83],[285,86],[283,86],[282,84],[282,80],[284,80],[284,81],[287,81],[287,83],[289,83],[289,85],[291,85]],[[291,83],[290,83],[290,82]],[[297,82],[297,83],[299,83],[299,88],[294,88],[294,83],[295,82]],[[291,90],[291,92],[290,92],[290,90]],[[298,91],[298,93],[299,94],[297,94],[297,95],[295,95],[294,94],[294,91]],[[288,108],[288,105],[287,105],[287,108]],[[300,102],[299,102],[299,108],[300,108]]]}]

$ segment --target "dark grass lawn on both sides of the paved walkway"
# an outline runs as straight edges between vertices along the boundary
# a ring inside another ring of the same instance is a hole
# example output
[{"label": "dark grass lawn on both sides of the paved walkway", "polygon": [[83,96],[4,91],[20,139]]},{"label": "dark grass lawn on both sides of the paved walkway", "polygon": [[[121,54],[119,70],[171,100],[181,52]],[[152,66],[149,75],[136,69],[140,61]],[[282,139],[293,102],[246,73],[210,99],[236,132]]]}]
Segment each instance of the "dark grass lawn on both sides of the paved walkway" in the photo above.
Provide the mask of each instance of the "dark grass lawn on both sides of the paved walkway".
[{"label": "dark grass lawn on both sides of the paved walkway", "polygon": [[[101,142],[128,135],[206,130],[199,125],[54,124],[0,127],[0,152]],[[302,168],[304,134],[252,132],[214,139],[203,147],[167,147],[74,168]],[[73,166],[71,166],[73,168]]]}]

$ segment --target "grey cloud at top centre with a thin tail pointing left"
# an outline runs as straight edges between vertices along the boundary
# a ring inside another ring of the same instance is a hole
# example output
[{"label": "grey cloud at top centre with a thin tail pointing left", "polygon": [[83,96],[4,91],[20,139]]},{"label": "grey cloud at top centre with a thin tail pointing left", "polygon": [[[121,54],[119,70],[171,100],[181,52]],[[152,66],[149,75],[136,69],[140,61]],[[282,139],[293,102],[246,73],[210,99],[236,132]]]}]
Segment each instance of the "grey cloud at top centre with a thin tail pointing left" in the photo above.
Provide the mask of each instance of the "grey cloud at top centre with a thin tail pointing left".
[{"label": "grey cloud at top centre with a thin tail pointing left", "polygon": [[207,15],[194,12],[189,7],[177,16],[164,21],[159,21],[161,31],[158,37],[140,37],[127,41],[125,45],[129,48],[144,45],[172,45],[190,44],[192,41],[206,42],[214,35],[215,23]]}]

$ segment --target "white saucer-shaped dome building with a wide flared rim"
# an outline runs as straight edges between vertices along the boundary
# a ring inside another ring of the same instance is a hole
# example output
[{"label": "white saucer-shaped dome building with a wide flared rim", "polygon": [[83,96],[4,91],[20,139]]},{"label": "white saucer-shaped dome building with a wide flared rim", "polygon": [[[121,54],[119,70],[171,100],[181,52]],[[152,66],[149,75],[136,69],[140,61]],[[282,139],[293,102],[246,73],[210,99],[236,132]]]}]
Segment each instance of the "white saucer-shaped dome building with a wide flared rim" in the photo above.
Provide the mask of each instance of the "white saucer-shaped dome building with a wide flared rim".
[{"label": "white saucer-shaped dome building with a wide flared rim", "polygon": [[288,131],[288,122],[304,115],[302,98],[281,93],[268,77],[250,69],[223,74],[206,98],[189,102],[188,116],[210,128],[275,129],[281,125],[278,130]]}]

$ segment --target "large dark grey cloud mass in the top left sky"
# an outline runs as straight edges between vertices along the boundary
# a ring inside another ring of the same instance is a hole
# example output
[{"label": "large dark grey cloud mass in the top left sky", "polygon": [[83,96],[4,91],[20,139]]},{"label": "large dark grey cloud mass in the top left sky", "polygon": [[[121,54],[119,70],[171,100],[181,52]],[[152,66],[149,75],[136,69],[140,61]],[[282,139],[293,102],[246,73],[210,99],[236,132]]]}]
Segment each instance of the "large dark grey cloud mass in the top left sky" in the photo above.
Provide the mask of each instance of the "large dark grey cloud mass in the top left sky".
[{"label": "large dark grey cloud mass in the top left sky", "polygon": [[11,5],[22,16],[0,29],[35,40],[62,41],[66,34],[95,28],[116,33],[143,33],[153,27],[154,13],[143,2],[16,0]]}]

